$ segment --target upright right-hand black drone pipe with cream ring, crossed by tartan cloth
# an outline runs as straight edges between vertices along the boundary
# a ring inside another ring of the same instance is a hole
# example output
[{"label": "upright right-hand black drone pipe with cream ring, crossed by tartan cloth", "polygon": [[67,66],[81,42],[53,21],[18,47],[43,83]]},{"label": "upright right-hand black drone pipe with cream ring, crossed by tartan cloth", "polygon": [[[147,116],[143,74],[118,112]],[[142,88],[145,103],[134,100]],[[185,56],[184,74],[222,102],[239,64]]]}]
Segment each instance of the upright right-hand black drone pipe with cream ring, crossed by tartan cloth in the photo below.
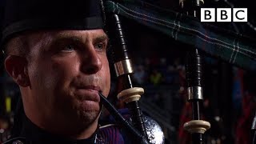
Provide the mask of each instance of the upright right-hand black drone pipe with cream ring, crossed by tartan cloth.
[{"label": "upright right-hand black drone pipe with cream ring, crossed by tartan cloth", "polygon": [[[192,17],[200,15],[203,0],[180,0],[182,12]],[[205,143],[203,134],[210,128],[210,123],[200,120],[202,97],[202,58],[197,48],[188,50],[186,57],[186,84],[188,101],[192,106],[192,120],[184,128],[192,134],[194,144]]]}]

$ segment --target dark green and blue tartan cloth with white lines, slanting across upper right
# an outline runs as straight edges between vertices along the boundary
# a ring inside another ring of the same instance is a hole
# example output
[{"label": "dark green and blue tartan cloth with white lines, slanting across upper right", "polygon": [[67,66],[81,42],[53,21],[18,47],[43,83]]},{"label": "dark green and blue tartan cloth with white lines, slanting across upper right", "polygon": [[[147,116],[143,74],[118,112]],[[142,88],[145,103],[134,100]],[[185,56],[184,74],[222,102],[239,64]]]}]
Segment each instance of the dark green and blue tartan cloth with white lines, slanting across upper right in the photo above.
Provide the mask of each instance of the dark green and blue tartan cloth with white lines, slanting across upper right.
[{"label": "dark green and blue tartan cloth with white lines, slanting across upper right", "polygon": [[256,39],[200,22],[185,14],[149,6],[134,0],[106,1],[106,12],[120,14],[142,25],[197,47],[246,70],[256,70]]}]

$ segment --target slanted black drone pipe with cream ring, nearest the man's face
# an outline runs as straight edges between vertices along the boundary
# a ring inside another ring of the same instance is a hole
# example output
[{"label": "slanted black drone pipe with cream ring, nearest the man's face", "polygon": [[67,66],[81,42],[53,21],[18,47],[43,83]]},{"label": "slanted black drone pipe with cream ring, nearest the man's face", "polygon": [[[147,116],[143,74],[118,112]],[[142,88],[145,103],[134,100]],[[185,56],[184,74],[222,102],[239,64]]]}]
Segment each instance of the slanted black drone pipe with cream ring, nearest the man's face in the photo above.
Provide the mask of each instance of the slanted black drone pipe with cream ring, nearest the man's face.
[{"label": "slanted black drone pipe with cream ring, nearest the man's face", "polygon": [[114,69],[118,77],[118,99],[124,102],[130,111],[133,126],[147,138],[142,110],[138,103],[144,90],[141,87],[133,86],[132,74],[134,74],[134,69],[118,14],[106,14],[106,30],[108,30],[107,34],[110,37],[110,47],[114,55]]}]

